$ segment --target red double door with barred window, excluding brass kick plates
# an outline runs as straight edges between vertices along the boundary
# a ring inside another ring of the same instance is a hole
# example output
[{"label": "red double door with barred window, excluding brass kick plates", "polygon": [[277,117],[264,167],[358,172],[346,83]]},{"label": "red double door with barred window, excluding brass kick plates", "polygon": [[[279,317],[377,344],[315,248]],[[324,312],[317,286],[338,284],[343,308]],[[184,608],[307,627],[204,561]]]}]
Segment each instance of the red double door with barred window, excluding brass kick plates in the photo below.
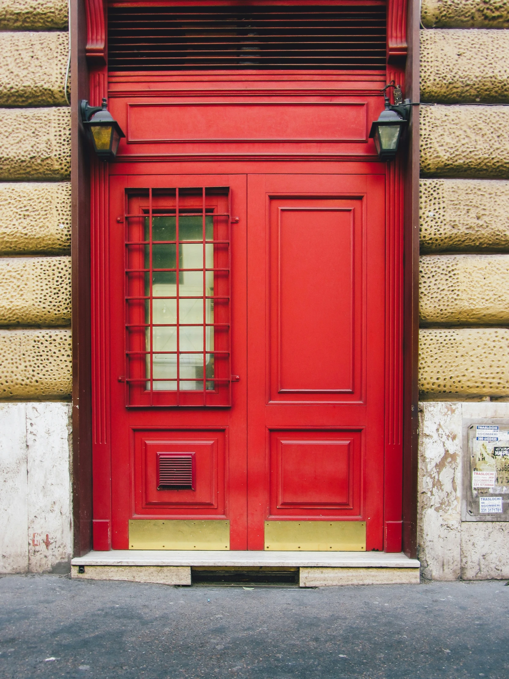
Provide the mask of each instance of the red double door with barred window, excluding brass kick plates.
[{"label": "red double door with barred window, excluding brass kick plates", "polygon": [[383,549],[385,175],[112,176],[109,260],[113,549],[132,519]]}]

